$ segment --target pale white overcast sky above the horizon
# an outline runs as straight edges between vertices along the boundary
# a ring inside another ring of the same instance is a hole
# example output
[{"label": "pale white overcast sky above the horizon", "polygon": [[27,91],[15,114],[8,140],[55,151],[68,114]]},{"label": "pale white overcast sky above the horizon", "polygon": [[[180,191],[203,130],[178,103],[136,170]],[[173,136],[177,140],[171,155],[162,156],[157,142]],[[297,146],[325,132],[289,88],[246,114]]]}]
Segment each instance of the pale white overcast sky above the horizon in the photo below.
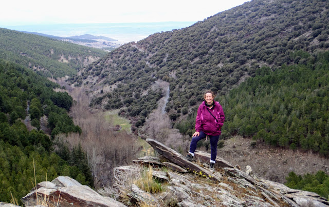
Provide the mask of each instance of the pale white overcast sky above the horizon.
[{"label": "pale white overcast sky above the horizon", "polygon": [[249,1],[7,0],[1,3],[0,26],[66,23],[197,22]]}]

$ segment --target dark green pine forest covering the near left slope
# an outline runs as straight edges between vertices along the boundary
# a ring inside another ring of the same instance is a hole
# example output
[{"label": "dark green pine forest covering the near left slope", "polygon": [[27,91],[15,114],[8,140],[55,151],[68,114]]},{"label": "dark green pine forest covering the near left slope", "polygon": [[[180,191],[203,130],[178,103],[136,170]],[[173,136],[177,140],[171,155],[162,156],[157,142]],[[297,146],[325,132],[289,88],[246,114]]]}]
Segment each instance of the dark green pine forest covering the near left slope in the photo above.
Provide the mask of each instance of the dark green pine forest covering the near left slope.
[{"label": "dark green pine forest covering the near left slope", "polygon": [[[67,175],[93,185],[81,146],[70,151],[62,143],[54,150],[57,134],[81,133],[67,114],[72,97],[55,92],[57,87],[28,68],[0,59],[0,201],[9,202],[10,193],[18,199],[25,196],[33,188],[34,167],[37,182]],[[41,119],[48,120],[44,127],[51,136],[39,130]]]}]

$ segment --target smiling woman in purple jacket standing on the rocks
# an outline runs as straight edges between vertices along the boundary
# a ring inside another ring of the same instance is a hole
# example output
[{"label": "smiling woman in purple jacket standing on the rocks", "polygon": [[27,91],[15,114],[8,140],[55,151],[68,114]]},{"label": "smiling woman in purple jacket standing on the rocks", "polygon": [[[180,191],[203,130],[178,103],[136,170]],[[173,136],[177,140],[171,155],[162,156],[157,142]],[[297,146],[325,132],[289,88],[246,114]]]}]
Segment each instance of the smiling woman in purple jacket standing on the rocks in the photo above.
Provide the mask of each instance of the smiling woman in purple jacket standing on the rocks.
[{"label": "smiling woman in purple jacket standing on the rocks", "polygon": [[221,128],[225,121],[223,108],[219,102],[214,101],[214,93],[206,91],[205,101],[199,106],[195,119],[195,133],[192,136],[190,152],[186,156],[189,161],[193,159],[196,143],[209,137],[211,156],[209,167],[213,169],[217,156],[217,142],[221,135]]}]

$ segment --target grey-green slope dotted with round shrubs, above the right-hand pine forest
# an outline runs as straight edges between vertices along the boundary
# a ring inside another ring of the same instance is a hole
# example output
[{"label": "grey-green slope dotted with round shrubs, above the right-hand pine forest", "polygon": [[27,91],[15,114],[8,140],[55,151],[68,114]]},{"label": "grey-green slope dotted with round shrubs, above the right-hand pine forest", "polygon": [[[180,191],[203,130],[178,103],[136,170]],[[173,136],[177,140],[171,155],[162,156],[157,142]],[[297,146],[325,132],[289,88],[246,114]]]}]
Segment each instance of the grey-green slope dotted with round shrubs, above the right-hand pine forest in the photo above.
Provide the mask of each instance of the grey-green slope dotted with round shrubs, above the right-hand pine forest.
[{"label": "grey-green slope dotted with round shrubs, above the right-hand pine forest", "polygon": [[[104,88],[120,83],[121,90],[110,94],[123,105],[137,94],[136,88],[148,90],[162,79],[170,82],[167,111],[176,113],[195,106],[205,89],[226,94],[260,66],[276,69],[305,61],[290,56],[295,50],[311,54],[327,50],[328,15],[325,1],[254,0],[191,27],[126,44],[85,68],[72,82]],[[134,87],[129,87],[132,82]]]}]

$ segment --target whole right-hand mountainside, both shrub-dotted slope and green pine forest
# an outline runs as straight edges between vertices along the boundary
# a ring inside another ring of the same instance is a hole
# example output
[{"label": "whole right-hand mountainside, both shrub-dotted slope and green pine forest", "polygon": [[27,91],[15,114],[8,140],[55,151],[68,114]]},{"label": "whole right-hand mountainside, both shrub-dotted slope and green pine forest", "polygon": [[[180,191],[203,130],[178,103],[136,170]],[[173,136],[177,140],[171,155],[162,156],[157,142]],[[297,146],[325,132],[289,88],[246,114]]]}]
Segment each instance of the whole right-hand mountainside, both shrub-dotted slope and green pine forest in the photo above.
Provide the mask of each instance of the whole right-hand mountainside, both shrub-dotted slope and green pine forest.
[{"label": "whole right-hand mountainside, both shrub-dotted slope and green pine forest", "polygon": [[[253,136],[328,157],[327,17],[326,1],[254,0],[126,44],[71,80],[97,89],[91,105],[121,108],[136,127],[161,97],[154,94],[163,93],[156,80],[167,81],[166,111],[188,135],[203,91],[229,92],[220,97],[222,137]],[[249,76],[256,77],[240,85]]]}]

